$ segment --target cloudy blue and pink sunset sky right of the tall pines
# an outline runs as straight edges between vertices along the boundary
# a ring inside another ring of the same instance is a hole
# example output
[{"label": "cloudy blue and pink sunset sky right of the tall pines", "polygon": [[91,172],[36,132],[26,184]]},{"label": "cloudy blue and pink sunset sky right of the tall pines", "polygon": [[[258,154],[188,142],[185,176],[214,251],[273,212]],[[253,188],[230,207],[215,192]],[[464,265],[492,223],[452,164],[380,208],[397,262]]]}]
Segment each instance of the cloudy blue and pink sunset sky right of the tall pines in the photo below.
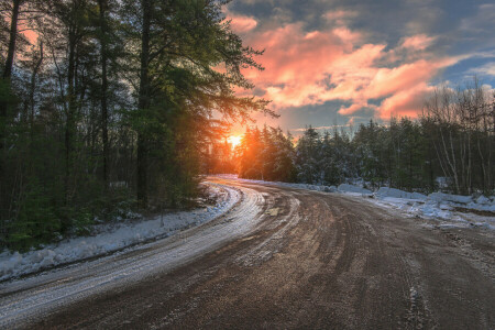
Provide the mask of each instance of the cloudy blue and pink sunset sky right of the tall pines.
[{"label": "cloudy blue and pink sunset sky right of the tall pines", "polygon": [[[244,70],[295,135],[416,118],[436,86],[495,87],[495,3],[459,0],[233,0],[223,9],[265,70]],[[234,131],[243,132],[237,127]]]}]

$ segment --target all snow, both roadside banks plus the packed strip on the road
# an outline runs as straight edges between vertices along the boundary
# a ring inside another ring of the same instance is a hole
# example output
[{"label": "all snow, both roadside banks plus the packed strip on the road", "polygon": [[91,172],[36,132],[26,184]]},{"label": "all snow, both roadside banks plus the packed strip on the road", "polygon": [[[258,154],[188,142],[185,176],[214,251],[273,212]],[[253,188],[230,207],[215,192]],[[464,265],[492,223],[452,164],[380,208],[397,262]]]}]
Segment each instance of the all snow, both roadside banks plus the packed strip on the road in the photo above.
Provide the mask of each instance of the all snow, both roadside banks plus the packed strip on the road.
[{"label": "all snow, both roadside banks plus the packed strip on the road", "polygon": [[[228,178],[235,179],[233,176]],[[249,183],[252,180],[242,182]],[[329,190],[329,187],[312,185],[255,183],[318,191]],[[58,245],[46,246],[40,251],[25,254],[2,253],[0,266],[8,270],[8,273],[2,273],[2,276],[9,278],[35,272],[44,266],[50,267],[59,262],[77,261],[80,260],[80,255],[96,256],[99,251],[114,251],[112,249],[121,246],[121,242],[141,243],[146,238],[153,238],[154,234],[157,234],[154,238],[167,237],[163,240],[150,240],[123,251],[106,254],[102,257],[50,270],[37,276],[0,283],[0,296],[2,297],[0,299],[0,328],[19,327],[19,321],[41,318],[65,304],[136,283],[144,277],[152,278],[163,274],[163,272],[169,272],[197,258],[199,255],[217,250],[234,238],[245,235],[253,231],[266,217],[271,217],[262,212],[262,206],[266,205],[264,193],[251,189],[249,185],[237,188],[212,183],[209,183],[209,185],[217,189],[220,197],[215,207],[193,212],[167,215],[164,217],[163,224],[158,217],[140,223],[125,223],[111,232],[102,232],[92,238],[70,240]],[[337,188],[332,190],[337,191]],[[356,193],[338,191],[337,194],[355,196]],[[420,216],[425,219],[431,219],[433,224],[430,226],[440,229],[495,229],[494,217],[455,212],[449,201],[391,197],[407,196],[394,190],[383,190],[383,195],[386,196],[383,199],[364,198],[363,200],[398,209],[410,217]],[[490,202],[492,202],[492,199],[490,199]],[[481,199],[477,204],[476,199],[476,205],[486,207],[488,201]],[[284,226],[284,231],[289,230],[295,222],[299,221],[298,199],[290,200],[289,206],[288,213],[278,215],[280,219],[276,223],[276,226]],[[180,231],[190,226],[197,226],[201,221],[204,222],[200,228]],[[150,226],[144,226],[145,222],[148,222]],[[265,255],[270,251],[266,248],[267,242],[268,240],[261,242],[253,250],[253,254],[248,255],[241,262],[252,264],[253,260],[256,260],[252,255]],[[70,246],[72,244],[74,245]],[[133,253],[128,254],[129,251]],[[70,257],[75,257],[75,260],[70,260]],[[30,263],[31,266],[29,266]],[[87,270],[90,270],[90,272],[87,272]]]}]

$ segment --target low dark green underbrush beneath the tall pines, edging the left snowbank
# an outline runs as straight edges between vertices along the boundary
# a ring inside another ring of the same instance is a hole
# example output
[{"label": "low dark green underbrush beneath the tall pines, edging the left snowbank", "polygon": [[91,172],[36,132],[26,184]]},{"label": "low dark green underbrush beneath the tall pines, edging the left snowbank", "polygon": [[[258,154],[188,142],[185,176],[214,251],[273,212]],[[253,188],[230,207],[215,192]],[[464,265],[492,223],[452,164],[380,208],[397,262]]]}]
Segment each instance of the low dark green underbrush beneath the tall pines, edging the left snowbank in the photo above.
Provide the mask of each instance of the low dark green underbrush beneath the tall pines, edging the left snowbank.
[{"label": "low dark green underbrush beneath the tall pines, edging the left snowbank", "polygon": [[[146,209],[140,209],[133,191],[118,185],[95,191],[92,199],[85,196],[88,202],[61,206],[44,187],[34,185],[24,194],[15,217],[2,221],[0,251],[38,250],[65,239],[98,234],[108,226],[212,206],[221,198],[220,191],[206,185],[198,185],[189,194],[176,193],[155,195]],[[172,195],[175,198],[169,198]]]}]

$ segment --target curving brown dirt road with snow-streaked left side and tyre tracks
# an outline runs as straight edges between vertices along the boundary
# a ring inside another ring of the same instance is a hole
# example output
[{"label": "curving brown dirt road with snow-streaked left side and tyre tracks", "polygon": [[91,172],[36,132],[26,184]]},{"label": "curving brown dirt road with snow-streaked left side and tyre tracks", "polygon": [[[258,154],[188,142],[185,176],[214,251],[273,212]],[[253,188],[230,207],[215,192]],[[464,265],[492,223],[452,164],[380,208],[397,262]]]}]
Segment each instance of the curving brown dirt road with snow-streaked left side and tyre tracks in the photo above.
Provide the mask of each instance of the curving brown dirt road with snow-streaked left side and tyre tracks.
[{"label": "curving brown dirt road with snow-streaked left side and tyre tracks", "polygon": [[242,191],[180,235],[0,285],[0,328],[495,329],[495,235],[362,198]]}]

